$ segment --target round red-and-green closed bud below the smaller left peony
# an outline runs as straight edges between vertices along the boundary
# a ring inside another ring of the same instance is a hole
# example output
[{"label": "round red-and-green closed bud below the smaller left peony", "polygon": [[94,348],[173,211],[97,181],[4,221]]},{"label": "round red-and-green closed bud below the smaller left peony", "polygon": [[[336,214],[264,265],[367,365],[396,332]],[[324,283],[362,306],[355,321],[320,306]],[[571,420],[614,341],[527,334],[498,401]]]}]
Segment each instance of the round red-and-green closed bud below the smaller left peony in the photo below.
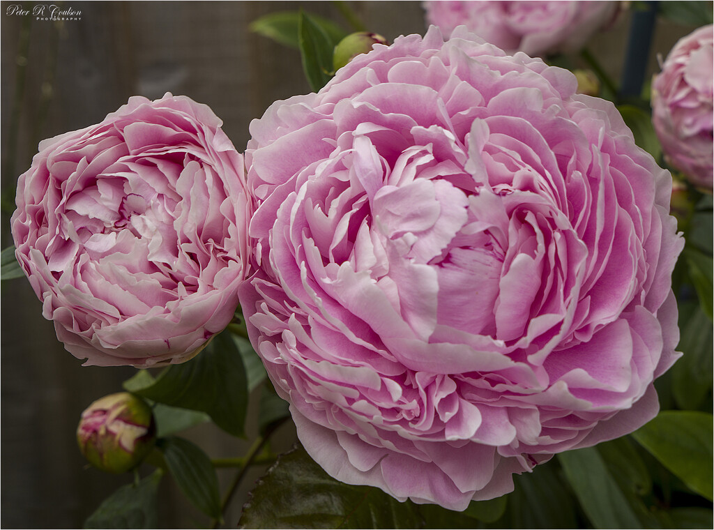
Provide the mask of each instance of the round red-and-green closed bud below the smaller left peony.
[{"label": "round red-and-green closed bud below the smaller left peony", "polygon": [[104,396],[82,412],[77,441],[93,466],[109,473],[130,471],[154,447],[151,408],[129,392]]}]

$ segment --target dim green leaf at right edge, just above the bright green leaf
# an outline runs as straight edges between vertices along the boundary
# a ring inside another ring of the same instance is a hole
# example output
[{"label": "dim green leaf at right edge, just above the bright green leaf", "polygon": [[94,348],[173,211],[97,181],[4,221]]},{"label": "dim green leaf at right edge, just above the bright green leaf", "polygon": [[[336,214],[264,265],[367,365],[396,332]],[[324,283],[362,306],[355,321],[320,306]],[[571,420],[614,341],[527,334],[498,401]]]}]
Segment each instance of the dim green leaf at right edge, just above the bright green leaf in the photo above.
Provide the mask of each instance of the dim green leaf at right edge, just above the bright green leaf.
[{"label": "dim green leaf at right edge, just above the bright green leaf", "polygon": [[[683,311],[683,308],[680,309]],[[680,322],[682,335],[678,350],[682,357],[671,369],[672,393],[681,409],[711,406],[714,338],[712,325],[700,306]]]}]

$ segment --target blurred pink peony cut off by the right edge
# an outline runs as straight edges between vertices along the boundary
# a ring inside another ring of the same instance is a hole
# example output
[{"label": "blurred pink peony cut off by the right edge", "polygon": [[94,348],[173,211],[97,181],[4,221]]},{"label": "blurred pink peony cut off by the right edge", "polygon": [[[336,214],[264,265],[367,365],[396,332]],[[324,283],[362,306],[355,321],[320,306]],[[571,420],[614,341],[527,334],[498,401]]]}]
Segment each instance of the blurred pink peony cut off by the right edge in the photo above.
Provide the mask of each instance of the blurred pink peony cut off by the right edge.
[{"label": "blurred pink peony cut off by the right edge", "polygon": [[652,121],[668,162],[695,186],[714,185],[714,26],[675,44],[652,83]]}]

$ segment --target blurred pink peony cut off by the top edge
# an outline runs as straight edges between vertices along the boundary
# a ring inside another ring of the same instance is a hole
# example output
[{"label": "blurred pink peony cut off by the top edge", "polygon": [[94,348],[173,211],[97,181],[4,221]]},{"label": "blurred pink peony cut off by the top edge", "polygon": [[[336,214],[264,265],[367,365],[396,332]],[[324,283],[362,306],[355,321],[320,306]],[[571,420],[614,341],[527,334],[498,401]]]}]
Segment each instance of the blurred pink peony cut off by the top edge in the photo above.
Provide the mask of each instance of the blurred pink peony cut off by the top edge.
[{"label": "blurred pink peony cut off by the top edge", "polygon": [[616,1],[425,1],[426,19],[446,36],[465,25],[509,53],[579,51],[612,21]]}]

